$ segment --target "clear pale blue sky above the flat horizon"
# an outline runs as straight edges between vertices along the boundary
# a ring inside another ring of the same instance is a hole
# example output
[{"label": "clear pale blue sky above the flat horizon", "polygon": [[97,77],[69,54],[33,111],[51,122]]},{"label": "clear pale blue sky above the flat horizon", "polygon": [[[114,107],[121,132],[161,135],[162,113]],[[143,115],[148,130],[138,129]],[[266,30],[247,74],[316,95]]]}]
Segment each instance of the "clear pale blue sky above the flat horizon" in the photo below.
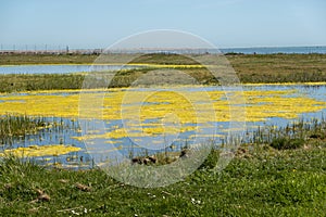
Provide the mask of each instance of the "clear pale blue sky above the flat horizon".
[{"label": "clear pale blue sky above the flat horizon", "polygon": [[218,48],[326,46],[325,0],[0,0],[4,48],[105,48],[150,29]]}]

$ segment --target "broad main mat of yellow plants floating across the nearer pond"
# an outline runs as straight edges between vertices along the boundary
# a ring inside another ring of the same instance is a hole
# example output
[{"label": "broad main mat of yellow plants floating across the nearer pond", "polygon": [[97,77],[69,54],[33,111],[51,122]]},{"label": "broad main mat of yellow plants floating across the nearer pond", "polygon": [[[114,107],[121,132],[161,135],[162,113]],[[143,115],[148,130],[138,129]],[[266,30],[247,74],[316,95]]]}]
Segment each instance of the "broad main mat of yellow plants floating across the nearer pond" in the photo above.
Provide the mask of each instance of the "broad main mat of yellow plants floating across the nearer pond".
[{"label": "broad main mat of yellow plants floating across the nearer pond", "polygon": [[[227,93],[217,88],[206,91],[202,87],[191,87],[191,93],[189,93],[190,87],[174,88],[178,89],[177,93],[170,91],[168,87],[162,87],[160,91],[153,88],[83,90],[84,94],[88,95],[88,103],[102,105],[101,113],[89,110],[83,113],[84,116],[79,116],[78,113],[79,92],[76,90],[8,94],[1,97],[0,115],[14,113],[73,119],[79,117],[106,122],[127,120],[124,123],[125,126],[109,128],[105,133],[93,133],[93,136],[88,133],[79,139],[88,140],[141,138],[197,131],[214,123],[229,122],[230,111],[236,110],[236,105],[228,103],[225,97]],[[105,97],[99,101],[103,92]],[[210,102],[202,101],[203,92],[208,94]],[[243,91],[246,122],[264,122],[273,117],[290,119],[302,113],[326,108],[326,102],[297,93],[296,89]],[[129,95],[126,98],[126,94]],[[209,106],[214,108],[215,115],[212,116]]]}]

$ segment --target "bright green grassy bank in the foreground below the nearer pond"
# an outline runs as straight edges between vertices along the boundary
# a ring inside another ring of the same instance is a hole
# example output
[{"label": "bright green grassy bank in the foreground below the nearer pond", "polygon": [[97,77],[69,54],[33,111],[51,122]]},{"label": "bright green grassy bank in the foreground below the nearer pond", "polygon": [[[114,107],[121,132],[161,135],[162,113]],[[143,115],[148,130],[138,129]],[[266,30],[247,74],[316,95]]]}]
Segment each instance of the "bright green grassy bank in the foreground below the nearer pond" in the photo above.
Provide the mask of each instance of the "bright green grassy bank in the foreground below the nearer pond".
[{"label": "bright green grassy bank in the foreground below the nearer pond", "polygon": [[[299,126],[302,127],[293,135],[293,127]],[[30,162],[7,158],[0,163],[0,214],[324,216],[325,123],[299,122],[287,128],[289,132],[283,135],[285,128],[255,131],[255,142],[243,142],[221,174],[210,170],[218,158],[218,152],[212,151],[195,174],[158,189],[125,186],[99,169],[46,169]],[[277,135],[301,138],[303,143],[289,148],[275,141]]]}]

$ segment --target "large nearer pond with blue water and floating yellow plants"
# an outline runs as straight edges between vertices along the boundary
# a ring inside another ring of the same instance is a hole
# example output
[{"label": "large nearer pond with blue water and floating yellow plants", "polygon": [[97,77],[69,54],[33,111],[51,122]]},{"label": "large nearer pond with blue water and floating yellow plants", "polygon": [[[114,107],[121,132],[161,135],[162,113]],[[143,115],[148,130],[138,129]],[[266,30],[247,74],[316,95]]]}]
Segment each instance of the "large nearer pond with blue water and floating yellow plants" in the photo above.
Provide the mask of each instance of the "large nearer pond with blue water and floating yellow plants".
[{"label": "large nearer pond with blue water and floating yellow plants", "polygon": [[[243,92],[233,92],[244,100],[236,103],[229,102],[233,98],[221,87],[1,94],[0,115],[26,114],[51,123],[36,135],[2,144],[2,152],[21,148],[16,152],[30,153],[42,164],[88,168],[93,166],[95,155],[102,162],[118,162],[118,157],[176,152],[185,145],[218,145],[230,132],[250,133],[259,126],[280,127],[298,118],[321,119],[326,110],[325,93],[325,85],[308,84],[246,85]],[[80,102],[83,98],[87,104]],[[243,112],[243,119],[230,115],[230,111]],[[49,151],[62,151],[62,144],[77,149],[58,154]],[[36,152],[37,146],[45,149]]]}]

